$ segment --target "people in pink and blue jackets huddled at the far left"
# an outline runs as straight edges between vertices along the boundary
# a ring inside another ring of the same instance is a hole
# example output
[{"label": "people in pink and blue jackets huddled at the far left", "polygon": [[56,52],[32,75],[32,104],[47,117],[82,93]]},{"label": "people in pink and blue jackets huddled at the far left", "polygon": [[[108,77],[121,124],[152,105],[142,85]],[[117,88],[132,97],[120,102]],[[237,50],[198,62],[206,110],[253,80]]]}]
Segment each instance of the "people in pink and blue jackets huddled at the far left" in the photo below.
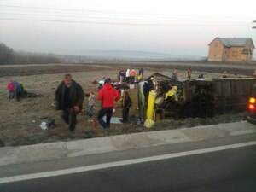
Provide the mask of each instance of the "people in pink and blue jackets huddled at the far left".
[{"label": "people in pink and blue jackets huddled at the far left", "polygon": [[20,98],[26,96],[27,93],[24,89],[23,83],[19,83],[18,81],[14,81],[13,79],[9,79],[6,89],[9,92],[9,101],[15,100],[15,97],[17,101],[20,101]]}]

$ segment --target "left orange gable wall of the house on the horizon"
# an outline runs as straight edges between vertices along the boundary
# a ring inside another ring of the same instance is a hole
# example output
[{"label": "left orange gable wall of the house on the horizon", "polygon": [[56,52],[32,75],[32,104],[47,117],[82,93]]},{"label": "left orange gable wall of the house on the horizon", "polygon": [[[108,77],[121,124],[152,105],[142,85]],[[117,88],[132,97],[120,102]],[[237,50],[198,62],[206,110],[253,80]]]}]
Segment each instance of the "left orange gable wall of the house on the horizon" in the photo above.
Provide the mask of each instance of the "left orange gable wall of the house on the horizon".
[{"label": "left orange gable wall of the house on the horizon", "polygon": [[216,38],[209,44],[208,61],[223,61],[224,45]]}]

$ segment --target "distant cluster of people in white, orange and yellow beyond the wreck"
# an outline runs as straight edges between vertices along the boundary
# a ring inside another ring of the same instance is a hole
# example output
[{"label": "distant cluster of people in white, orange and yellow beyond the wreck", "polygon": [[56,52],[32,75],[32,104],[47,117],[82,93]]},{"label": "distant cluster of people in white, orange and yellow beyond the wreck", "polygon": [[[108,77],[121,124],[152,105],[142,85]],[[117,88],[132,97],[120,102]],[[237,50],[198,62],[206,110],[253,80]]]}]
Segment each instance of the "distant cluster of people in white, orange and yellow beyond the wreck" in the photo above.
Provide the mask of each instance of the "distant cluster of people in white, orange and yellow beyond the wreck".
[{"label": "distant cluster of people in white, orange and yellow beyond the wreck", "polygon": [[128,68],[126,70],[121,69],[119,71],[119,80],[120,83],[127,82],[130,84],[134,84],[136,80],[136,75],[137,75],[137,80],[141,81],[143,80],[143,68],[140,68],[139,73],[137,74],[136,70],[132,68],[131,70]]}]

